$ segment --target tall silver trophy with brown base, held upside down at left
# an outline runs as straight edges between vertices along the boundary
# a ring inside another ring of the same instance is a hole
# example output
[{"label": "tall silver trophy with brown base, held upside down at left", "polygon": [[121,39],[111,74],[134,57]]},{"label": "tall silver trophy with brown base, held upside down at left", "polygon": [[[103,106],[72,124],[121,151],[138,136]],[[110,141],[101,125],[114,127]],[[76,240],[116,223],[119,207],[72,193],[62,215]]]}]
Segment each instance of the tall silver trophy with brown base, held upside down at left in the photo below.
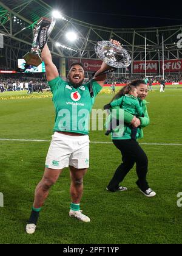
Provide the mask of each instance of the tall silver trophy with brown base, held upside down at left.
[{"label": "tall silver trophy with brown base, held upside down at left", "polygon": [[42,63],[41,52],[44,48],[56,21],[42,17],[34,30],[33,44],[30,52],[24,55],[27,65],[39,66]]}]

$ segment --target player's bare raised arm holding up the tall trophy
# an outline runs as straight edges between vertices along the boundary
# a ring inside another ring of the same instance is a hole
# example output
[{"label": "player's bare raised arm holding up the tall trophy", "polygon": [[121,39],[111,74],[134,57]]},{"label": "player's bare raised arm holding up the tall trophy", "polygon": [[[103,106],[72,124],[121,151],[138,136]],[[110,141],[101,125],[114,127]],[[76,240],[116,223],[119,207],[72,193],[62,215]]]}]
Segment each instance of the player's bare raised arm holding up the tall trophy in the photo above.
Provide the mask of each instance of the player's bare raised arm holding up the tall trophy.
[{"label": "player's bare raised arm holding up the tall trophy", "polygon": [[45,63],[45,73],[47,81],[53,80],[59,76],[58,69],[52,62],[52,55],[50,54],[49,47],[45,44],[41,54],[42,60]]}]

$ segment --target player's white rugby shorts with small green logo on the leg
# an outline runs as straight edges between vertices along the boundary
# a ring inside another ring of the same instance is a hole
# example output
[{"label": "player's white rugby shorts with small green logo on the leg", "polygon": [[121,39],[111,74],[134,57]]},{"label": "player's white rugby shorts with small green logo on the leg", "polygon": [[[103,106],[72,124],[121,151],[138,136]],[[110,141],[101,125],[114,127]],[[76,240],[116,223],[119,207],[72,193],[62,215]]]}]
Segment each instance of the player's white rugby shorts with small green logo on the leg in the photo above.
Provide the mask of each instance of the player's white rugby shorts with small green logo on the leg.
[{"label": "player's white rugby shorts with small green logo on the leg", "polygon": [[45,167],[63,169],[73,166],[76,169],[89,168],[89,136],[69,136],[59,132],[52,135]]}]

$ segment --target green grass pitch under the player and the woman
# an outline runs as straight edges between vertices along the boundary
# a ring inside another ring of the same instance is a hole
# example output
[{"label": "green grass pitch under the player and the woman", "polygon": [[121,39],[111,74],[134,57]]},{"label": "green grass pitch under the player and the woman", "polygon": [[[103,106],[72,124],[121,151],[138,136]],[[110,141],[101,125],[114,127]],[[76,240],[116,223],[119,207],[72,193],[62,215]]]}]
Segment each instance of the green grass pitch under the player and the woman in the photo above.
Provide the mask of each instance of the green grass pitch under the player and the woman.
[{"label": "green grass pitch under the player and the woman", "polygon": [[[1,139],[50,140],[55,113],[52,99],[43,95],[0,94]],[[99,94],[94,108],[102,108],[111,98],[111,94]],[[135,168],[123,182],[128,191],[106,191],[121,155],[113,144],[91,143],[81,201],[91,222],[69,217],[70,177],[65,169],[45,202],[36,233],[27,235],[24,228],[49,142],[0,140],[0,192],[4,194],[0,243],[181,243],[182,208],[177,206],[177,194],[182,191],[182,90],[166,86],[165,93],[160,93],[157,87],[147,101],[150,126],[144,129],[140,143],[149,157],[148,180],[156,197],[147,198],[136,188]],[[90,141],[111,140],[103,131],[91,131]]]}]

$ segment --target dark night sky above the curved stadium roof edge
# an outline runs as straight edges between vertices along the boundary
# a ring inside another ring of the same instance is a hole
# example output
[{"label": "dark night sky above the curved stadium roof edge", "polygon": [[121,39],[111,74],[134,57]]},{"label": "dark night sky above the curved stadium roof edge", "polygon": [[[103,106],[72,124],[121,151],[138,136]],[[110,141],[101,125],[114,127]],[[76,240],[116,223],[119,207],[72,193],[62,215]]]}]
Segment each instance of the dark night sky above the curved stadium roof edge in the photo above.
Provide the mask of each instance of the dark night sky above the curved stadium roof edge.
[{"label": "dark night sky above the curved stadium roof edge", "polygon": [[[76,20],[113,28],[174,26],[182,24],[181,1],[44,0]],[[164,4],[163,4],[164,3]]]}]

